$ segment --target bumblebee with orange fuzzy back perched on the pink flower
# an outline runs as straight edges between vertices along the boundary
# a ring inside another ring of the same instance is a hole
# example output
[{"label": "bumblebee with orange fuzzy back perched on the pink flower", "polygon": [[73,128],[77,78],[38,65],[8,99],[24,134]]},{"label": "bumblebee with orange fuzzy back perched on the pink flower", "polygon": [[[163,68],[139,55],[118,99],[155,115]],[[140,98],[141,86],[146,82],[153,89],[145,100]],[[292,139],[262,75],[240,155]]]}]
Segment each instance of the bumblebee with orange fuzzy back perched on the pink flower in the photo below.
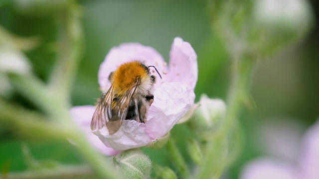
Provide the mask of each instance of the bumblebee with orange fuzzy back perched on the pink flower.
[{"label": "bumblebee with orange fuzzy back perched on the pink flower", "polygon": [[110,74],[112,85],[96,107],[91,121],[92,131],[106,125],[112,135],[120,129],[123,120],[146,122],[149,107],[154,101],[156,81],[156,77],[150,73],[150,67],[154,66],[132,61],[122,64]]}]

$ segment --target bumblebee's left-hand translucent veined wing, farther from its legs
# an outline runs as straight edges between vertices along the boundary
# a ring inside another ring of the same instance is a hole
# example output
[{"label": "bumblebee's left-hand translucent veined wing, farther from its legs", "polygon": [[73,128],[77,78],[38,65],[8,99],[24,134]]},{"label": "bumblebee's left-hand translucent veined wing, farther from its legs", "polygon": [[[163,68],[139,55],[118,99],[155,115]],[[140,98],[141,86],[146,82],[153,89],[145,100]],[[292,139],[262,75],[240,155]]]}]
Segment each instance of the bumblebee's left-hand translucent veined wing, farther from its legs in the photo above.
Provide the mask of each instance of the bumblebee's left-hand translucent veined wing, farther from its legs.
[{"label": "bumblebee's left-hand translucent veined wing, farther from its legs", "polygon": [[91,121],[91,130],[101,129],[112,118],[111,104],[113,97],[114,88],[112,85],[96,107]]}]

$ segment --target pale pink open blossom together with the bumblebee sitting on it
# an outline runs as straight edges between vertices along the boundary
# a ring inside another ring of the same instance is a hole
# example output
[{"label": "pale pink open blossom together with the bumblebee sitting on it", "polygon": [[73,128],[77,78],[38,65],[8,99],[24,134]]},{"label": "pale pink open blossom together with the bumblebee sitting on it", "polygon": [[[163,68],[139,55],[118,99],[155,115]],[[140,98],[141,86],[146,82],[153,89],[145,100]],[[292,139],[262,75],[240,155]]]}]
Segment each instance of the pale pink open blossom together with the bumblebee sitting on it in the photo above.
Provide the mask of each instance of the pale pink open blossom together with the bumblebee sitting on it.
[{"label": "pale pink open blossom together with the bumblebee sitting on it", "polygon": [[97,106],[76,106],[71,114],[102,152],[150,145],[194,104],[197,73],[196,53],[179,37],[171,46],[168,64],[152,47],[121,44],[100,66],[104,95]]}]

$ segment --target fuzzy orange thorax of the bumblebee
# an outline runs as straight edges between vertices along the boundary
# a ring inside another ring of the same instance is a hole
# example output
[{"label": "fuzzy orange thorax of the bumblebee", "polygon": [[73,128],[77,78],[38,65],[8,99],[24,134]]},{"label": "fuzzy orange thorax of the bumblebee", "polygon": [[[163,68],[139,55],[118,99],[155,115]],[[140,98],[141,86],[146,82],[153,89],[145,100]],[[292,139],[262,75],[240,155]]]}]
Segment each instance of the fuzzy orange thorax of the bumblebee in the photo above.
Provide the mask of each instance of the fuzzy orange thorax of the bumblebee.
[{"label": "fuzzy orange thorax of the bumblebee", "polygon": [[125,92],[131,87],[137,78],[143,79],[148,76],[141,62],[133,61],[121,65],[113,74],[113,86],[117,93]]}]

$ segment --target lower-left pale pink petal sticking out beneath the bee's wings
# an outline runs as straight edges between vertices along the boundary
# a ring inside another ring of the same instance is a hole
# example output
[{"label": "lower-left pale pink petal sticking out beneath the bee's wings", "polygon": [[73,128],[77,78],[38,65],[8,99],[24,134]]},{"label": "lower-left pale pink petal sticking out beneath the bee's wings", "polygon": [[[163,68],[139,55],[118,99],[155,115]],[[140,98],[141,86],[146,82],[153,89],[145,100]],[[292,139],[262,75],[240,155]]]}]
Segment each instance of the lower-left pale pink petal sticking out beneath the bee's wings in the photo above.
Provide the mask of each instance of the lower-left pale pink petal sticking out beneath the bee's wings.
[{"label": "lower-left pale pink petal sticking out beneath the bee's wings", "polygon": [[87,106],[76,106],[72,107],[70,113],[74,118],[76,124],[80,127],[80,129],[85,133],[89,142],[101,153],[114,156],[120,153],[120,151],[116,151],[110,147],[106,147],[101,140],[91,132],[91,119],[93,113],[95,111],[95,106],[87,105]]}]

